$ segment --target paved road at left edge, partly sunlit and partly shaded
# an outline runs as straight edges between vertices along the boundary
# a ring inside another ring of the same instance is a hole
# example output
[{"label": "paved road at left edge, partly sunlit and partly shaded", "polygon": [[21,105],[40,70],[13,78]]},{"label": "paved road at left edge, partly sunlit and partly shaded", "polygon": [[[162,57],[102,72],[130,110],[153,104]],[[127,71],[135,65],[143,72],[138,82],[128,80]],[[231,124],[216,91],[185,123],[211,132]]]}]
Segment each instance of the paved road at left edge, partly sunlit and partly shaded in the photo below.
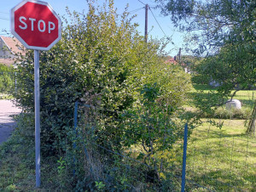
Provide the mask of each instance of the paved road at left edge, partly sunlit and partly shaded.
[{"label": "paved road at left edge, partly sunlit and partly shaded", "polygon": [[9,138],[15,128],[15,121],[11,116],[21,112],[10,100],[0,100],[0,144]]}]

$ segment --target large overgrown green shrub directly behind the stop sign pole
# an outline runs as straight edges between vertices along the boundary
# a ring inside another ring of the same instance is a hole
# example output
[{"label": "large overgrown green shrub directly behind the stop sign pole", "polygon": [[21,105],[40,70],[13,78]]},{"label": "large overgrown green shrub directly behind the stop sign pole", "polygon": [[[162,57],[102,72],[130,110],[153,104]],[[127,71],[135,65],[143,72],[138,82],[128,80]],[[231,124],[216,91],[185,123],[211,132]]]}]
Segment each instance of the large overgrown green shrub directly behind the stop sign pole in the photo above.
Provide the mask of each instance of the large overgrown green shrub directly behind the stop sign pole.
[{"label": "large overgrown green shrub directly behind the stop sign pole", "polygon": [[[64,27],[61,41],[48,52],[40,53],[42,151],[44,155],[63,156],[60,164],[67,167],[69,174],[75,167],[75,189],[103,189],[104,185],[111,190],[118,185],[117,190],[123,190],[122,182],[129,183],[132,177],[120,171],[116,177],[107,179],[115,174],[113,161],[120,165],[123,161],[109,150],[122,153],[142,141],[153,142],[155,150],[144,154],[148,155],[144,163],[160,167],[164,163],[160,150],[172,149],[182,134],[176,109],[186,99],[189,75],[178,66],[164,64],[158,51],[160,45],[155,41],[144,42],[137,25],[131,23],[132,17],[127,11],[119,17],[111,0],[103,8],[89,3],[86,15],[69,16],[71,22]],[[33,53],[28,51],[18,66],[15,94],[28,112],[34,110],[32,63]],[[76,101],[89,109],[79,113],[80,123],[84,122],[79,133],[73,131]],[[133,114],[135,118],[131,117]],[[148,123],[155,129],[149,135],[145,134],[150,128]],[[132,137],[126,131],[135,131],[143,138]],[[166,143],[161,146],[164,140]],[[89,141],[96,145],[88,147]],[[98,155],[88,158],[92,151]],[[152,164],[151,158],[157,161]],[[97,168],[94,174],[88,173],[92,166]],[[160,182],[159,168],[141,171],[156,175]]]}]

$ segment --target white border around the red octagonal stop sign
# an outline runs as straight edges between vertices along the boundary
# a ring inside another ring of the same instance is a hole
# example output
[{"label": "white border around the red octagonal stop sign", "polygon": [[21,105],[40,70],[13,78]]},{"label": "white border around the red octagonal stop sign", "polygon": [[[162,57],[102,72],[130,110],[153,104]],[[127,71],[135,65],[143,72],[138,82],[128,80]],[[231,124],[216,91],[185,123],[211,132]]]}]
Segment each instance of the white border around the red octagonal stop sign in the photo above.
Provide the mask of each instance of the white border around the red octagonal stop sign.
[{"label": "white border around the red octagonal stop sign", "polygon": [[[38,3],[38,4],[42,4],[45,5],[49,8],[49,10],[52,12],[52,14],[55,15],[55,17],[58,20],[58,37],[55,39],[54,42],[50,43],[49,46],[47,48],[43,48],[43,47],[36,47],[36,46],[30,46],[28,45],[21,37],[18,33],[16,33],[15,31],[15,11],[17,9],[19,9],[20,7],[22,7],[24,4],[31,2],[31,3]],[[34,49],[34,50],[41,50],[41,51],[48,51],[50,48],[52,48],[57,42],[59,42],[61,40],[61,18],[55,13],[54,9],[49,5],[49,3],[47,2],[42,2],[42,1],[36,1],[36,0],[24,0],[21,3],[19,3],[18,5],[16,5],[14,8],[12,8],[10,10],[10,16],[11,16],[11,33],[25,46],[25,48],[28,49]]]}]

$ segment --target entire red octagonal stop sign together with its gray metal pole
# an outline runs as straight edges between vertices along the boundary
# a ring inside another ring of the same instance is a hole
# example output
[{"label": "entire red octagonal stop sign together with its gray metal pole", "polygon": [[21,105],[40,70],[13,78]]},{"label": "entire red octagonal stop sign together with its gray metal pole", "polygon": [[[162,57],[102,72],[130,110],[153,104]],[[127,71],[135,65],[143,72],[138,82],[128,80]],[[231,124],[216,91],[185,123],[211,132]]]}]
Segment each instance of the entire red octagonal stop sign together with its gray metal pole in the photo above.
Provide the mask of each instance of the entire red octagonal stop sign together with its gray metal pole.
[{"label": "entire red octagonal stop sign together with its gray metal pole", "polygon": [[48,51],[61,40],[61,19],[49,3],[23,0],[10,11],[11,32],[26,47],[34,49],[36,187],[40,179],[39,50]]}]

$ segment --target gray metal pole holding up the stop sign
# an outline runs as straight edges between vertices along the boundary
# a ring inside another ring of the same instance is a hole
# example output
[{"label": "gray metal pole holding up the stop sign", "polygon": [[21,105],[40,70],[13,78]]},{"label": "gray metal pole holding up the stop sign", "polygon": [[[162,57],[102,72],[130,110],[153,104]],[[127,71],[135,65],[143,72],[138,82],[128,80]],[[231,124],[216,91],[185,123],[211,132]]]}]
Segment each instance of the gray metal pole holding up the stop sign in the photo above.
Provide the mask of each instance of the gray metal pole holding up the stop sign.
[{"label": "gray metal pole holding up the stop sign", "polygon": [[39,91],[39,51],[34,50],[35,76],[35,147],[36,147],[36,188],[40,187],[40,91]]}]

